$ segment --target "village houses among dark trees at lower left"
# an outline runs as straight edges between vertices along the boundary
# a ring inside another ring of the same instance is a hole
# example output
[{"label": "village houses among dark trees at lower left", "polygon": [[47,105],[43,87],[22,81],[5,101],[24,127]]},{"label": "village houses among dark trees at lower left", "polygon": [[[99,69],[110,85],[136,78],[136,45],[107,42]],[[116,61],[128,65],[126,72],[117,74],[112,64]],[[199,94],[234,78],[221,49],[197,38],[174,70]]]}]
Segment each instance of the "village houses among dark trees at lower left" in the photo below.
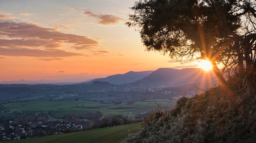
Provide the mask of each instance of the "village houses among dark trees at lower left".
[{"label": "village houses among dark trees at lower left", "polygon": [[43,137],[54,134],[63,134],[83,130],[80,123],[54,121],[48,123],[29,122],[25,125],[17,124],[16,121],[9,121],[8,125],[0,126],[0,141],[28,139],[32,137]]}]

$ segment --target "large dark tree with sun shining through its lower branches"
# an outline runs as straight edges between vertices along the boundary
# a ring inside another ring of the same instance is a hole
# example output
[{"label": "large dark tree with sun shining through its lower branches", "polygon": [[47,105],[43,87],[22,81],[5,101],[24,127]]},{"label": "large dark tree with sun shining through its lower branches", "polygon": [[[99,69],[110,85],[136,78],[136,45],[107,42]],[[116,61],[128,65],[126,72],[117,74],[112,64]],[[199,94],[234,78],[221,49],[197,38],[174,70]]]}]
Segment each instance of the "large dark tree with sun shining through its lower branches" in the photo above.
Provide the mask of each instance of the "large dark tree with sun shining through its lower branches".
[{"label": "large dark tree with sun shining through its lower branches", "polygon": [[130,9],[126,25],[146,50],[182,63],[207,59],[221,85],[256,87],[255,0],[139,0]]}]

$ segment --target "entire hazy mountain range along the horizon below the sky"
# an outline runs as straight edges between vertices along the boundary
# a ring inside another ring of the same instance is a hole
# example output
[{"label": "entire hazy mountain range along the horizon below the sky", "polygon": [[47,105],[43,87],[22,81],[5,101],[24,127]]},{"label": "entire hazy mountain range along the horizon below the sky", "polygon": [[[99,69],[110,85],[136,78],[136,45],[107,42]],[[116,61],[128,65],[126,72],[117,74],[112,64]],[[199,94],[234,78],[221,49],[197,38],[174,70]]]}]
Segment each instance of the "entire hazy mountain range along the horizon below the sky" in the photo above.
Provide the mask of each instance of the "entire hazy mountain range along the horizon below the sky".
[{"label": "entire hazy mountain range along the horizon below the sky", "polygon": [[[79,82],[76,84],[92,84],[95,81],[109,82],[115,85],[131,85],[131,86],[169,86],[178,87],[184,85],[197,85],[199,88],[209,88],[216,85],[216,78],[213,71],[205,71],[199,68],[159,68],[155,71],[127,72],[125,74],[115,74],[106,78],[97,78],[90,81]],[[61,82],[61,80],[19,80],[10,82],[0,82],[0,84],[56,84],[56,85],[72,85],[73,82]]]}]

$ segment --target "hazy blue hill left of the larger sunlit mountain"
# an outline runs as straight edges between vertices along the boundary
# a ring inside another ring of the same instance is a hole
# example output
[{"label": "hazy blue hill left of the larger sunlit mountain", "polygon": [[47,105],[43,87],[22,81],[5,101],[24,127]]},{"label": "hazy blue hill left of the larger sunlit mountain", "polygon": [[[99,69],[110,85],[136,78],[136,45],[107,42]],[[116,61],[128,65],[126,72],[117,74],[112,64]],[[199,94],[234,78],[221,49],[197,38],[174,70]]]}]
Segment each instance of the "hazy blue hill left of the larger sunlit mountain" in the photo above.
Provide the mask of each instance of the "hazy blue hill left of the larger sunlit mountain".
[{"label": "hazy blue hill left of the larger sunlit mountain", "polygon": [[153,71],[142,71],[142,72],[127,72],[125,74],[115,74],[112,76],[108,76],[106,78],[96,78],[90,82],[83,82],[83,84],[92,84],[94,81],[101,81],[101,82],[109,82],[115,85],[121,85],[124,83],[135,82],[137,80],[141,80],[142,78],[148,76]]}]

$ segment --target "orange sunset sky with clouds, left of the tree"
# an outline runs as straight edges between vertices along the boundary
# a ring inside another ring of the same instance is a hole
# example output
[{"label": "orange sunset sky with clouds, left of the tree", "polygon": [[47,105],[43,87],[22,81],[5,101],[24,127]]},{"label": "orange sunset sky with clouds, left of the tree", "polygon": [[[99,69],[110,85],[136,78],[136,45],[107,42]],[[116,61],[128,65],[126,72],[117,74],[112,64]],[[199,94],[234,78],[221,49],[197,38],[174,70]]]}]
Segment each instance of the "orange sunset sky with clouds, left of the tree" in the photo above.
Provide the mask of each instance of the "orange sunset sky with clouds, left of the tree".
[{"label": "orange sunset sky with clouds, left of the tree", "polygon": [[181,67],[124,23],[135,0],[0,0],[0,81],[83,81]]}]

